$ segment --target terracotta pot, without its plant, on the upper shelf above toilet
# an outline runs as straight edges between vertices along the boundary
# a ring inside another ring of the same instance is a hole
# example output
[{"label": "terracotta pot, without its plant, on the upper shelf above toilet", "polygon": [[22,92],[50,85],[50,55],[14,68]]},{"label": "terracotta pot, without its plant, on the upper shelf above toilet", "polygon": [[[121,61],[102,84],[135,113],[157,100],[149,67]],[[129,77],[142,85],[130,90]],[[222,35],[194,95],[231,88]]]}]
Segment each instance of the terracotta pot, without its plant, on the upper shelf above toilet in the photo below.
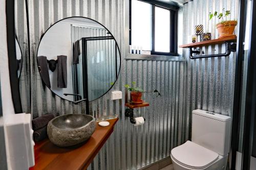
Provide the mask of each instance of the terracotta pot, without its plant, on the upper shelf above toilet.
[{"label": "terracotta pot, without its plant, on the upper shelf above toilet", "polygon": [[235,21],[235,20],[230,20],[230,21],[218,23],[216,25],[216,28],[219,32],[219,38],[229,37],[229,36],[233,35],[234,28],[236,28],[237,23],[238,22]]}]

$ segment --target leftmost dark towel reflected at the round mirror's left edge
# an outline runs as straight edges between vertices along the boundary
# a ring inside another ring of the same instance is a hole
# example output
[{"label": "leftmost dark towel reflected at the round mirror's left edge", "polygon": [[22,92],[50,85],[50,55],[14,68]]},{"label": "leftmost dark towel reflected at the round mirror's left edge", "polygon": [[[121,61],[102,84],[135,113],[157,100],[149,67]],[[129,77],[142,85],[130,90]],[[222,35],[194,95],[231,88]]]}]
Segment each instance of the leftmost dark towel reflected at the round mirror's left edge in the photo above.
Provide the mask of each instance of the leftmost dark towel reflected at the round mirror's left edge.
[{"label": "leftmost dark towel reflected at the round mirror's left edge", "polygon": [[45,83],[45,85],[47,85],[49,88],[51,88],[46,56],[38,56],[37,62],[38,62],[39,72],[40,72],[42,81]]}]

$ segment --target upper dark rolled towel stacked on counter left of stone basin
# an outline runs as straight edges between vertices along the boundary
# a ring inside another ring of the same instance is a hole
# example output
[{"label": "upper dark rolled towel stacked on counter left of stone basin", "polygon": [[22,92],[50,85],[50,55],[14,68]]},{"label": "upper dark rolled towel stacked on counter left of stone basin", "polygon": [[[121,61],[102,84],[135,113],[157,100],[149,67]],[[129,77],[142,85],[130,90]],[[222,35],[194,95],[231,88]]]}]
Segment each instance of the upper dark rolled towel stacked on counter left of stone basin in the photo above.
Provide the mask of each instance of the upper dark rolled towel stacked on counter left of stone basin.
[{"label": "upper dark rolled towel stacked on counter left of stone basin", "polygon": [[32,120],[32,129],[34,131],[44,128],[48,122],[54,118],[53,114],[45,114]]}]

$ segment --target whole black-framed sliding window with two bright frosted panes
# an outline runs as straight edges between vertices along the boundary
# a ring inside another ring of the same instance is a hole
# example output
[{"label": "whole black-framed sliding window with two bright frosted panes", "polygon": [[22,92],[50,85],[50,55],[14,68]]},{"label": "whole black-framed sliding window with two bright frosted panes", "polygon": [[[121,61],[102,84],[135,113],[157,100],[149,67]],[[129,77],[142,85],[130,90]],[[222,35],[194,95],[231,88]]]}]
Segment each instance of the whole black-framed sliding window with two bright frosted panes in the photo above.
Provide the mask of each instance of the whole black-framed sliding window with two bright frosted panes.
[{"label": "whole black-framed sliding window with two bright frosted panes", "polygon": [[176,55],[176,27],[176,7],[130,0],[130,45],[142,46],[151,54]]}]

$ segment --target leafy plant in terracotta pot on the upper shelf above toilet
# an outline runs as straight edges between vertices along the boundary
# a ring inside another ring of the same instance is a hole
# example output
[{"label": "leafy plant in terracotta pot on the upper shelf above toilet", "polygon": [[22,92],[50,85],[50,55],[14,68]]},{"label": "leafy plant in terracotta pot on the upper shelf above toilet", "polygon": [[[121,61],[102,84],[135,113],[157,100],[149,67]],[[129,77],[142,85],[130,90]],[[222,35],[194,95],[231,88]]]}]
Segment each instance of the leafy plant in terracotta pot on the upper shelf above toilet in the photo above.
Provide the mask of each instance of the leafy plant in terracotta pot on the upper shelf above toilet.
[{"label": "leafy plant in terracotta pot on the upper shelf above toilet", "polygon": [[237,20],[227,20],[227,16],[230,15],[230,11],[223,8],[222,12],[218,13],[215,11],[214,13],[209,13],[209,20],[213,17],[217,17],[221,19],[216,25],[216,28],[219,32],[219,38],[233,36],[234,28],[236,28],[238,21]]}]

